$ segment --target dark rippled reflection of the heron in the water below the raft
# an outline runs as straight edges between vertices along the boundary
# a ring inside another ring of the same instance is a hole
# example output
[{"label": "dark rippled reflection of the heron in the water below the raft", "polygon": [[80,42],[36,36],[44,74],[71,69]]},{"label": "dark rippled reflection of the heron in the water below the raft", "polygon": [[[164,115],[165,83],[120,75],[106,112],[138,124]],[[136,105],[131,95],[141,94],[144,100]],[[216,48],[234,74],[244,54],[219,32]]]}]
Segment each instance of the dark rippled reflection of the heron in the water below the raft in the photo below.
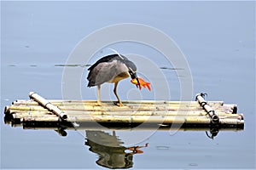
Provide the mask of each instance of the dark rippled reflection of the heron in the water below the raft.
[{"label": "dark rippled reflection of the heron in the water below the raft", "polygon": [[85,145],[90,146],[90,151],[96,153],[99,159],[96,163],[108,168],[129,168],[133,165],[133,155],[143,153],[140,150],[148,147],[148,143],[143,146],[125,147],[124,144],[113,131],[112,134],[103,131],[86,131]]}]

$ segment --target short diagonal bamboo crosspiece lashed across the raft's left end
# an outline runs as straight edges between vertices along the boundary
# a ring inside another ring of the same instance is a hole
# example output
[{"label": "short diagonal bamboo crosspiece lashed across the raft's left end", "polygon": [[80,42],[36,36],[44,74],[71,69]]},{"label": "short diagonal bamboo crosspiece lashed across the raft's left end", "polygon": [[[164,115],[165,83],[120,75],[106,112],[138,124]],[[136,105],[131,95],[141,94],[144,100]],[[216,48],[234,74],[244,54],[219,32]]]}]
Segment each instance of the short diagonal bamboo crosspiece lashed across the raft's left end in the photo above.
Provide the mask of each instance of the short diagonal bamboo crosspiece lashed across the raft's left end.
[{"label": "short diagonal bamboo crosspiece lashed across the raft's left end", "polygon": [[51,103],[49,103],[48,100],[44,99],[43,97],[39,96],[38,94],[36,94],[34,92],[30,92],[29,97],[31,99],[36,100],[38,102],[38,104],[43,105],[44,108],[46,108],[47,110],[55,113],[55,115],[60,116],[62,119],[67,119],[67,114],[64,111],[61,111],[58,107],[56,107],[55,105],[52,105]]}]

